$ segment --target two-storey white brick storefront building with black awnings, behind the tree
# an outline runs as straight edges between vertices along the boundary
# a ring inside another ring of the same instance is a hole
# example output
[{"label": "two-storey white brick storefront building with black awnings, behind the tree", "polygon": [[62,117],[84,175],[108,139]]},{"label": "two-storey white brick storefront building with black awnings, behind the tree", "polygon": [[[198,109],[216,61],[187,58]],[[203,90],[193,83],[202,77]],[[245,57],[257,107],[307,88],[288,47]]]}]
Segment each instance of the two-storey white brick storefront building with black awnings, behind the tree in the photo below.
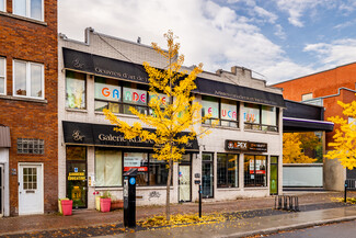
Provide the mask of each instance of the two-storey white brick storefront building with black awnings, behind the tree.
[{"label": "two-storey white brick storefront building with black awnings, behind the tree", "polygon": [[[137,168],[138,205],[164,204],[165,163],[152,158],[150,143],[114,132],[102,110],[128,123],[138,122],[129,106],[150,113],[142,63],[163,69],[165,59],[150,46],[93,29],[85,30],[84,42],[60,34],[58,54],[59,197],[72,199],[78,208],[94,208],[97,192],[122,199],[123,173]],[[240,67],[203,72],[196,84],[202,114],[210,113],[220,124],[186,145],[186,155],[173,167],[172,203],[197,201],[197,182],[210,201],[280,193],[282,91]],[[210,127],[210,121],[203,126]]]}]

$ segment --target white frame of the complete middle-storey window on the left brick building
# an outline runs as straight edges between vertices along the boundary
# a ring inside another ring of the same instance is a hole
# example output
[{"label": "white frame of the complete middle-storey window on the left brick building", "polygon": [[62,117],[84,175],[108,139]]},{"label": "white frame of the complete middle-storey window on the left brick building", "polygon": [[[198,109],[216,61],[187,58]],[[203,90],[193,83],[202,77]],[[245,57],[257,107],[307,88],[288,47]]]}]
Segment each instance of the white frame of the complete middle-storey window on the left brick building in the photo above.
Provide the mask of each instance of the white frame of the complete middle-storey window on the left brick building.
[{"label": "white frame of the complete middle-storey window on the left brick building", "polygon": [[[16,71],[16,67],[15,67],[15,63],[24,63],[26,64],[26,95],[18,95],[16,89],[15,89],[15,71]],[[42,69],[42,97],[32,97],[31,95],[31,66],[41,66]],[[19,59],[14,59],[13,60],[13,70],[12,70],[12,95],[13,97],[19,97],[19,98],[30,98],[30,99],[45,99],[45,70],[44,70],[44,65],[43,64],[38,64],[38,63],[32,63],[32,61],[24,61],[24,60],[19,60]]]}]

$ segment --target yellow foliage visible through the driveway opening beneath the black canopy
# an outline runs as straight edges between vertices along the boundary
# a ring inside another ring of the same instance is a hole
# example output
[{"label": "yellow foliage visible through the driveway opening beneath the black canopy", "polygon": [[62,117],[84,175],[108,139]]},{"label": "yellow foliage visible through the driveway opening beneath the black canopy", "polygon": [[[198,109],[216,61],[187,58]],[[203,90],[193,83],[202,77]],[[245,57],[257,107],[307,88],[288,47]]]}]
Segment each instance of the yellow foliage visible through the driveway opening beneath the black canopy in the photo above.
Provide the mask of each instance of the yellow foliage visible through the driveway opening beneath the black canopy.
[{"label": "yellow foliage visible through the driveway opening beneath the black canopy", "polygon": [[283,134],[283,162],[284,163],[311,163],[317,159],[302,152],[302,143],[299,133]]}]

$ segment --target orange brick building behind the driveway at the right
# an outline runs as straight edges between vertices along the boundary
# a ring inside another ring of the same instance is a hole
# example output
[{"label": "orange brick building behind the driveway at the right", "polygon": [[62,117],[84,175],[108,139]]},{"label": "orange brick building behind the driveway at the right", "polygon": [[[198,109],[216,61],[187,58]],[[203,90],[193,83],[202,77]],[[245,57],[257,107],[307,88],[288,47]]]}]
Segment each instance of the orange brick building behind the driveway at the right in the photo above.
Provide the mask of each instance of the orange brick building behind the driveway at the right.
[{"label": "orange brick building behind the driveway at the right", "polygon": [[[333,69],[312,73],[309,76],[276,83],[274,87],[283,88],[287,100],[302,101],[324,106],[324,117],[343,115],[337,101],[349,103],[356,100],[356,63],[338,66]],[[346,118],[347,120],[347,118]],[[337,128],[337,125],[335,125]],[[332,148],[328,146],[333,141],[334,132],[324,134],[325,152]],[[343,190],[346,177],[353,177],[337,160],[324,160],[324,188],[328,190]]]}]

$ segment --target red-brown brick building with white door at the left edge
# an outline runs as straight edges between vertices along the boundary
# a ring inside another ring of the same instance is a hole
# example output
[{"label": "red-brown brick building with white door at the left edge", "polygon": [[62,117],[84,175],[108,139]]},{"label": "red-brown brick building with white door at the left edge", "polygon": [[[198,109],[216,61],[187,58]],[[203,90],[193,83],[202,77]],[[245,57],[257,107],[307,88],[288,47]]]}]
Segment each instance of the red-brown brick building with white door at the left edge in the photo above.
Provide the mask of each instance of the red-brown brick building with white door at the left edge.
[{"label": "red-brown brick building with white door at the left edge", "polygon": [[57,0],[0,1],[0,216],[58,199]]}]

